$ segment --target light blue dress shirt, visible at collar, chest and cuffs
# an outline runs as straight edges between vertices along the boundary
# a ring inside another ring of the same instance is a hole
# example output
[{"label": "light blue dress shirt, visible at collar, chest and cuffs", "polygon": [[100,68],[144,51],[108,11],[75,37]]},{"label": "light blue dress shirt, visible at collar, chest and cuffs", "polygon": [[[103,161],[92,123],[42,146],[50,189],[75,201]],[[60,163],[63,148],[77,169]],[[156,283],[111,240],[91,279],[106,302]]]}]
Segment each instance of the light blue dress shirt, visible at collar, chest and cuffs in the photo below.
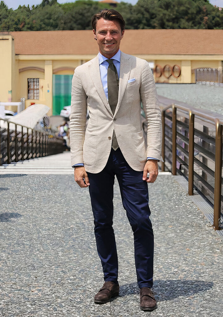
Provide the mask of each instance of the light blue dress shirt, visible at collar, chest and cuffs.
[{"label": "light blue dress shirt, visible at collar, chest and cuffs", "polygon": [[[120,49],[118,52],[112,57],[113,59],[113,64],[115,65],[118,73],[118,78],[120,74],[120,58],[121,58],[121,51]],[[98,53],[98,59],[99,59],[99,68],[100,68],[100,74],[101,74],[101,82],[104,88],[105,96],[108,100],[108,81],[107,81],[107,73],[108,73],[108,65],[109,63],[106,61],[108,58],[101,55],[101,53]],[[148,159],[155,159],[155,158],[147,158]],[[73,165],[72,167],[75,166],[84,166],[83,163],[78,163]]]}]

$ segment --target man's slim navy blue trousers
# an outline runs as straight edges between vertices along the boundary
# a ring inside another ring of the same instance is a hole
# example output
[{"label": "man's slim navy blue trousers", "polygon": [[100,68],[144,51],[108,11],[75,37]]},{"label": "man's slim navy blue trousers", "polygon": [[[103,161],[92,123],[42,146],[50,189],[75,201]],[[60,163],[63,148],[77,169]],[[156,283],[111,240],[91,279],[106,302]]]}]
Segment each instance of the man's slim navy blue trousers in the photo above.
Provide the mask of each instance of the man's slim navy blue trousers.
[{"label": "man's slim navy blue trousers", "polygon": [[94,215],[94,232],[105,281],[117,282],[118,256],[113,218],[113,185],[115,175],[121,192],[133,235],[135,265],[139,288],[153,285],[154,239],[150,221],[148,185],[143,172],[134,171],[124,159],[121,150],[111,150],[105,168],[89,173],[89,192]]}]

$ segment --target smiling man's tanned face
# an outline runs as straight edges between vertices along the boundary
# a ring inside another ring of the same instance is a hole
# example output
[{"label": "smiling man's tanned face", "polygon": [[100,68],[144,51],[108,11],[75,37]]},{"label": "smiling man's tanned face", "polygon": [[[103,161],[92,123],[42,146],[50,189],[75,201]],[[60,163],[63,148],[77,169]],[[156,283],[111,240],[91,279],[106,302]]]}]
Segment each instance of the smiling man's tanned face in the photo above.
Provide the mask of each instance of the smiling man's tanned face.
[{"label": "smiling man's tanned face", "polygon": [[118,52],[121,38],[124,35],[120,24],[101,18],[96,23],[96,32],[93,30],[93,33],[98,42],[99,52],[107,58],[112,58]]}]

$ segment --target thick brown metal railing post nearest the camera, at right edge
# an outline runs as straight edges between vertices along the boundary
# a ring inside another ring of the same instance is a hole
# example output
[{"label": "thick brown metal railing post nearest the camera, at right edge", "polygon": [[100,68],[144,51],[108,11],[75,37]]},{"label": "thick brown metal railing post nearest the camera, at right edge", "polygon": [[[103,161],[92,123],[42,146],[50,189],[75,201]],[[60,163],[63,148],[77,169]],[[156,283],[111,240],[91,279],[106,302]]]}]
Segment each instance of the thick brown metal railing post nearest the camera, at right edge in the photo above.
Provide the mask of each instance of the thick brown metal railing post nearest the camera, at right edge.
[{"label": "thick brown metal railing post nearest the camera, at right edge", "polygon": [[214,229],[219,230],[221,214],[221,170],[222,170],[222,132],[223,126],[215,120],[215,170],[214,170]]}]

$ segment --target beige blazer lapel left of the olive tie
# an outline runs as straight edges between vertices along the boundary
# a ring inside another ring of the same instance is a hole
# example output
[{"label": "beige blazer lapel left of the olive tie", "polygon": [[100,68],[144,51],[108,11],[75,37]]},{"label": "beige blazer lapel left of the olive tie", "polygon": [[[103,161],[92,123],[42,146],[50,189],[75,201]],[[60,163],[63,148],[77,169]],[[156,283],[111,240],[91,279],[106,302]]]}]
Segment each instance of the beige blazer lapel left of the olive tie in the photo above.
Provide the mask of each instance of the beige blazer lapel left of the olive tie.
[{"label": "beige blazer lapel left of the olive tie", "polygon": [[101,98],[105,107],[108,109],[108,111],[113,116],[112,110],[111,110],[110,105],[108,103],[108,100],[105,96],[105,91],[104,91],[104,88],[103,88],[103,85],[101,82],[101,74],[100,74],[98,56],[92,60],[92,64],[90,64],[90,66],[89,66],[89,73],[90,73],[93,85],[94,85],[95,89],[97,90],[99,97]]}]

